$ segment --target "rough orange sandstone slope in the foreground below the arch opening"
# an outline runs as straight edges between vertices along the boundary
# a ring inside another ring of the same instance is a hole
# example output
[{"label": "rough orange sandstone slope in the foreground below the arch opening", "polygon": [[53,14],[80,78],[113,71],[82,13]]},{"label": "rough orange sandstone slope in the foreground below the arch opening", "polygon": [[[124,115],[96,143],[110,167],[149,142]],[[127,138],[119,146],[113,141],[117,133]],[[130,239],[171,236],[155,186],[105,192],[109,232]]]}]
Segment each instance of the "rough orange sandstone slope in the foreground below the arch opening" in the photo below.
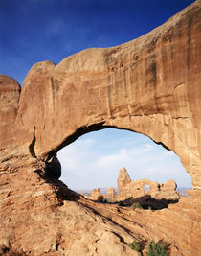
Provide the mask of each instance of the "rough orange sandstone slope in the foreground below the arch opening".
[{"label": "rough orange sandstone slope in the foreground below the arch opening", "polygon": [[134,255],[127,243],[154,239],[170,244],[170,255],[196,255],[201,195],[190,191],[190,196],[160,211],[95,203],[44,172],[21,168],[1,176],[0,250],[2,255],[122,256]]}]

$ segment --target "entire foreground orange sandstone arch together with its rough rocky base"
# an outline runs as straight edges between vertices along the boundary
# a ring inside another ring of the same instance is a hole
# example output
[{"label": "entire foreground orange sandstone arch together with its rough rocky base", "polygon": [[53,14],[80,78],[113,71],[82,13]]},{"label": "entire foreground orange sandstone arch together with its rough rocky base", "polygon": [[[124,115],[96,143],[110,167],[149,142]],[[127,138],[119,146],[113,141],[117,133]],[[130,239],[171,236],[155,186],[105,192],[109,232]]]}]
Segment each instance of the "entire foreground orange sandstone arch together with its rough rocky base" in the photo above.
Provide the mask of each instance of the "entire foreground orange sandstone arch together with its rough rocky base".
[{"label": "entire foreground orange sandstone arch together with its rough rocky base", "polygon": [[[36,63],[21,93],[0,77],[1,254],[130,255],[126,243],[156,238],[171,244],[172,255],[197,255],[200,10],[199,0],[123,45]],[[45,175],[57,151],[101,128],[143,133],[174,151],[190,172],[190,198],[162,213],[103,211],[50,178],[57,172]]]}]

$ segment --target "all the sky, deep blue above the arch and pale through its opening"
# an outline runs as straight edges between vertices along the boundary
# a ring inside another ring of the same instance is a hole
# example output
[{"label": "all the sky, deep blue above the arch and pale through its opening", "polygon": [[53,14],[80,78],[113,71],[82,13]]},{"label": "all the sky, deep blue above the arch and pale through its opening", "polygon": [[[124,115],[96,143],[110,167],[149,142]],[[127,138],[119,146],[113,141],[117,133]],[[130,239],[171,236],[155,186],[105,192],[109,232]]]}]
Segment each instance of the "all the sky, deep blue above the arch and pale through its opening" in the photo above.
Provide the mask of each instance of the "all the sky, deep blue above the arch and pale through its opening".
[{"label": "all the sky, deep blue above the arch and pale through its opening", "polygon": [[[169,17],[192,2],[190,0],[0,0],[0,74],[11,76],[22,85],[35,62],[52,60],[57,64],[63,58],[86,48],[122,44],[162,25]],[[145,136],[135,133],[130,135],[128,131],[120,130],[103,130],[84,135],[68,147],[64,156],[63,151],[60,152],[62,155],[60,158],[66,162],[66,165],[63,164],[62,178],[72,188],[115,185],[118,170],[124,165],[133,179],[151,174],[150,169],[153,168],[158,171],[155,175],[148,175],[149,178],[160,181],[163,177],[172,178],[175,173],[180,174],[176,180],[178,185],[190,186],[190,176],[186,175],[179,159],[173,153],[170,156],[170,152],[157,145],[154,145],[156,149],[150,151],[151,156],[147,156],[148,149],[150,150],[153,145],[151,141],[146,140]],[[121,143],[118,145],[119,141]],[[85,143],[88,143],[87,147],[85,145],[80,150]],[[140,157],[135,154],[134,149],[147,150],[142,154],[143,159],[142,155]],[[91,156],[89,156],[90,151],[93,152]],[[156,155],[153,155],[154,151]],[[123,153],[129,157],[124,156],[124,160],[119,162],[118,159],[122,159]],[[162,156],[163,153],[166,156]],[[157,158],[157,154],[167,159],[163,165],[166,170],[169,166],[169,176],[165,175],[167,171],[162,171],[163,168],[159,165],[161,159]],[[69,159],[70,155],[77,156],[77,159],[81,157],[77,169],[75,166],[71,169],[69,163],[74,160]],[[148,157],[155,159],[154,166],[151,167],[150,161],[146,160]],[[113,160],[106,167],[109,159]],[[93,160],[96,160],[94,165]],[[112,161],[115,170],[109,171]],[[146,162],[149,171],[144,171],[143,166]],[[98,175],[97,170],[101,170],[102,176]],[[88,180],[87,176],[90,177]]]}]

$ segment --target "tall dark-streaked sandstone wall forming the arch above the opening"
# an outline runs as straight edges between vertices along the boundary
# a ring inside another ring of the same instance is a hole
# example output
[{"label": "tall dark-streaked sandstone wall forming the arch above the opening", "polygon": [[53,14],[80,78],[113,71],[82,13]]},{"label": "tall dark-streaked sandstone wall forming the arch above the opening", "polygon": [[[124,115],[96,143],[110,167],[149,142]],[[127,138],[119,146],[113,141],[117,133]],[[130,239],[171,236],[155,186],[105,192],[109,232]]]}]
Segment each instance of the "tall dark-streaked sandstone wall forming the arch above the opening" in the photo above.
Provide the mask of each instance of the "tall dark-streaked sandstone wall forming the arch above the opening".
[{"label": "tall dark-streaked sandstone wall forming the arch above the opening", "polygon": [[200,5],[123,45],[33,65],[0,134],[4,165],[13,139],[15,155],[47,160],[86,132],[124,128],[176,152],[201,188]]}]

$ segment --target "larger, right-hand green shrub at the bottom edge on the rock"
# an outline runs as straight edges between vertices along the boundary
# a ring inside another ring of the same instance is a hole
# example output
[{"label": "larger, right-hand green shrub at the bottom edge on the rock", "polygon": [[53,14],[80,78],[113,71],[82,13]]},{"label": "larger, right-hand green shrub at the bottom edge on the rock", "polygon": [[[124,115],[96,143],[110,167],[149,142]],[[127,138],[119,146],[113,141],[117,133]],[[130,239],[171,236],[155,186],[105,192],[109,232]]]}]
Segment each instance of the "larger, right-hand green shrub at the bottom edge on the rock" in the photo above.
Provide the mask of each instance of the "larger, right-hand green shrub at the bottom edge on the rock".
[{"label": "larger, right-hand green shrub at the bottom edge on the rock", "polygon": [[151,240],[147,249],[145,256],[168,256],[167,246],[162,242],[155,243]]}]

